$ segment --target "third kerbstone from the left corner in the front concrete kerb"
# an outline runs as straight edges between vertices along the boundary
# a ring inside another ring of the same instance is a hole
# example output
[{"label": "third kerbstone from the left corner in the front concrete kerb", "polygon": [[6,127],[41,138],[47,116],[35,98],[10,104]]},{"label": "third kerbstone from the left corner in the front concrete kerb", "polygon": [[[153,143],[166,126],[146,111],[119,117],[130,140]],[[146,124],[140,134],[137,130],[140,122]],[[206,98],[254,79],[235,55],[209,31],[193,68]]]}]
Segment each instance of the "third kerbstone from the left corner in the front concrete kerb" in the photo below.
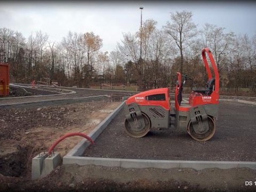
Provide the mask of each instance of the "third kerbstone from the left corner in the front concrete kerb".
[{"label": "third kerbstone from the left corner in the front concrete kerb", "polygon": [[191,168],[195,170],[211,168],[231,169],[236,167],[238,167],[238,162],[180,161],[180,168]]}]

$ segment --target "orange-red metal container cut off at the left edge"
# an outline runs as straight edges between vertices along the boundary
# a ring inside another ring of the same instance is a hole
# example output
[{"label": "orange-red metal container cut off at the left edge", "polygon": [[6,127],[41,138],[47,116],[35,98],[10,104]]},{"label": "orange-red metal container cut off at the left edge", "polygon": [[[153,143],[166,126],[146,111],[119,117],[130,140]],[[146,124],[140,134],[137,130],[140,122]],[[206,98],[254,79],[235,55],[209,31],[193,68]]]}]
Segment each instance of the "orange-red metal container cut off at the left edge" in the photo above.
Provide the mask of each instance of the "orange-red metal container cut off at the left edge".
[{"label": "orange-red metal container cut off at the left edge", "polygon": [[9,95],[9,65],[0,63],[0,96]]}]

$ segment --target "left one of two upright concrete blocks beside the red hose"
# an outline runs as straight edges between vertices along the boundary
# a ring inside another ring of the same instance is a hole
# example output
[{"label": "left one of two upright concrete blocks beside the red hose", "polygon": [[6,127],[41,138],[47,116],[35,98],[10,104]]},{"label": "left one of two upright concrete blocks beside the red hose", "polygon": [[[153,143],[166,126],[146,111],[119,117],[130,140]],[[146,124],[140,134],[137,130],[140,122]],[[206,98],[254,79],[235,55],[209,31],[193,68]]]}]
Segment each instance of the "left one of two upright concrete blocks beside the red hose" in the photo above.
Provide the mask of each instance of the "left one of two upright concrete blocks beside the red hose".
[{"label": "left one of two upright concrete blocks beside the red hose", "polygon": [[32,159],[31,179],[39,179],[43,170],[43,162],[47,153],[41,153]]}]

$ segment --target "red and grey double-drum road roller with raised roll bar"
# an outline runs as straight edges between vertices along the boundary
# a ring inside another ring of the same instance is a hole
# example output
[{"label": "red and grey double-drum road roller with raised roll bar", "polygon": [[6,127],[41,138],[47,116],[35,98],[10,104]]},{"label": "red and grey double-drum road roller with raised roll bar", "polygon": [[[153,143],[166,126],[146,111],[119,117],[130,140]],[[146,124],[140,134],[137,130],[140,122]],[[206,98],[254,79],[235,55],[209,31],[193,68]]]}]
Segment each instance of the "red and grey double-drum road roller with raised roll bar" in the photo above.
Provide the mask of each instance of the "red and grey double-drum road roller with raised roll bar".
[{"label": "red and grey double-drum road roller with raised roll bar", "polygon": [[[206,59],[210,59],[212,70]],[[209,48],[202,50],[208,81],[205,89],[192,90],[188,103],[182,102],[187,75],[177,73],[175,106],[171,106],[169,88],[154,89],[133,95],[125,102],[125,131],[131,137],[145,136],[150,129],[174,125],[197,141],[207,141],[215,133],[219,105],[219,72]]]}]

